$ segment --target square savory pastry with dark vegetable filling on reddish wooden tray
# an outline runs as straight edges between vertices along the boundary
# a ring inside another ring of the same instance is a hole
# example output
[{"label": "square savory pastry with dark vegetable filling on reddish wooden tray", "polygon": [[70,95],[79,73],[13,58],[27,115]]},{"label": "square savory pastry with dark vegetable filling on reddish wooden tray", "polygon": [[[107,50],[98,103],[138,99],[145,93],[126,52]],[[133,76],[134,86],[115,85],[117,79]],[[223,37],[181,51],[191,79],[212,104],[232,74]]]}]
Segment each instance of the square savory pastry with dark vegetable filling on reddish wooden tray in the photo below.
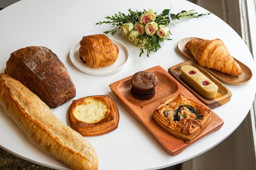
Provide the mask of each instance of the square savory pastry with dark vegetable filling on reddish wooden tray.
[{"label": "square savory pastry with dark vegetable filling on reddish wooden tray", "polygon": [[179,94],[160,104],[153,113],[157,124],[185,141],[198,136],[211,122],[211,110]]}]

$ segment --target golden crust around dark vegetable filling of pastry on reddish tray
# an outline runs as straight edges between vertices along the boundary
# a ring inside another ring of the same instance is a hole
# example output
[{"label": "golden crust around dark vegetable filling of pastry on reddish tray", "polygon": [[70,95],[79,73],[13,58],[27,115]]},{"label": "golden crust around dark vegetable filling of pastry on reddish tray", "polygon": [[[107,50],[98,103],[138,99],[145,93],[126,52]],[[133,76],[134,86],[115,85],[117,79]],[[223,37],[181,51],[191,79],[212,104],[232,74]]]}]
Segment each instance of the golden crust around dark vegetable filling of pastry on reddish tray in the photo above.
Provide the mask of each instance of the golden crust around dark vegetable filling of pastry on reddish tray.
[{"label": "golden crust around dark vegetable filling of pastry on reddish tray", "polygon": [[[189,105],[195,108],[195,110],[200,110],[200,115],[203,115],[204,117],[200,120],[182,119],[179,122],[168,120],[164,117],[164,110],[176,110],[179,106],[182,105]],[[207,109],[195,101],[186,98],[182,94],[170,98],[164,103],[160,104],[154,110],[153,118],[157,124],[166,132],[185,141],[191,141],[196,136],[198,136],[212,120],[210,109]]]}]

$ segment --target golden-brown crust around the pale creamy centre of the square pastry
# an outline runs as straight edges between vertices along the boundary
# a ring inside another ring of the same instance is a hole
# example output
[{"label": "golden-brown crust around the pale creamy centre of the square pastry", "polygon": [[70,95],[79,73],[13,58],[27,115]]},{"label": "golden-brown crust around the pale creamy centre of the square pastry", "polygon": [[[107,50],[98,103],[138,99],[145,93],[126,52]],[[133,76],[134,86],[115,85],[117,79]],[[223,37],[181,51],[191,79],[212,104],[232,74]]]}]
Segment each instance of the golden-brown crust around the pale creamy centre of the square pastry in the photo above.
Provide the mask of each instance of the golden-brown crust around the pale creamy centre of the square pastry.
[{"label": "golden-brown crust around the pale creamy centre of the square pastry", "polygon": [[[109,110],[107,115],[96,123],[85,123],[78,120],[74,115],[75,108],[78,105],[83,104],[84,101],[88,99],[104,103]],[[81,135],[97,136],[111,132],[118,127],[119,111],[115,102],[108,95],[87,96],[77,100],[73,100],[72,104],[69,107],[68,118],[71,127],[79,132]]]}]

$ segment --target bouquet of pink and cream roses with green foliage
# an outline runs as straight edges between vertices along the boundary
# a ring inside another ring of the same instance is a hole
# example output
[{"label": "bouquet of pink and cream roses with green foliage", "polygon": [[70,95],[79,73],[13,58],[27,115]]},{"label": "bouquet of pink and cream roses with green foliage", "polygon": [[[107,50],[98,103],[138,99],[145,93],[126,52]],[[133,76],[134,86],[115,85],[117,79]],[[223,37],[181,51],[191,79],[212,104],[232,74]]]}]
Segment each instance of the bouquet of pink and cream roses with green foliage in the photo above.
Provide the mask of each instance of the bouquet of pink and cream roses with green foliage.
[{"label": "bouquet of pink and cream roses with green foliage", "polygon": [[132,11],[128,10],[129,14],[118,12],[111,17],[107,16],[105,19],[108,21],[98,22],[96,25],[111,24],[115,28],[109,31],[105,31],[105,34],[111,33],[114,35],[117,31],[121,31],[121,34],[125,36],[128,40],[134,43],[134,45],[140,47],[140,55],[147,51],[147,56],[149,57],[150,51],[156,51],[161,48],[160,42],[168,39],[170,30],[168,25],[173,20],[179,20],[181,18],[198,18],[200,16],[209,15],[199,14],[197,12],[181,11],[178,14],[171,14],[170,9],[165,9],[159,15],[156,14],[152,9],[148,11]]}]

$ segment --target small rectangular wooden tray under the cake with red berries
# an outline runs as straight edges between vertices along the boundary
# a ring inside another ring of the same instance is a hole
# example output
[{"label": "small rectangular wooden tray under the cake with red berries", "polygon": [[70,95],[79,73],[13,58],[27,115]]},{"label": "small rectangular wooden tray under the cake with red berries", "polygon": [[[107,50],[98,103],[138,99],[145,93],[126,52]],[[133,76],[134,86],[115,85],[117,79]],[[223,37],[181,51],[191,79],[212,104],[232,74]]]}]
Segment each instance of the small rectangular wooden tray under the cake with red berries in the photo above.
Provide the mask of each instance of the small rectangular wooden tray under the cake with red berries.
[{"label": "small rectangular wooden tray under the cake with red berries", "polygon": [[[180,68],[183,65],[191,65],[193,67],[196,67],[201,73],[203,73],[206,77],[212,80],[219,87],[218,92],[214,99],[205,98],[198,91],[196,91],[192,86],[190,86],[185,80],[181,78]],[[186,87],[191,93],[193,93],[193,95],[195,95],[199,100],[201,100],[206,106],[208,106],[211,109],[224,105],[231,99],[232,92],[227,87],[225,87],[220,81],[218,81],[215,77],[213,77],[209,72],[207,72],[203,67],[196,64],[192,60],[174,65],[168,69],[168,72],[176,80],[178,80],[184,87]]]}]

